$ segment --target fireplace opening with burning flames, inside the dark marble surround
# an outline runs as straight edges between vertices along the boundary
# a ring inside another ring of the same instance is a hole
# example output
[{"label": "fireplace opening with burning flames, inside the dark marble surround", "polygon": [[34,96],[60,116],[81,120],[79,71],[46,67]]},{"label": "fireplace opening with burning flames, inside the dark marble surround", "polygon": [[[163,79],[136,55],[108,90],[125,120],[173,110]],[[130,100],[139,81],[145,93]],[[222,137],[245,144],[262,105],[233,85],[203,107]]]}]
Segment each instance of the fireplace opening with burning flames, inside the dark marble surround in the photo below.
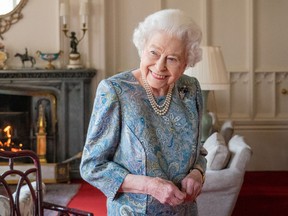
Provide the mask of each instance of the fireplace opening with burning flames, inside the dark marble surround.
[{"label": "fireplace opening with burning flames, inside the dark marble surround", "polygon": [[[1,90],[0,90],[1,92]],[[45,119],[47,161],[55,162],[57,109],[53,94],[10,90],[0,93],[0,150],[30,149],[37,151],[40,108]]]}]

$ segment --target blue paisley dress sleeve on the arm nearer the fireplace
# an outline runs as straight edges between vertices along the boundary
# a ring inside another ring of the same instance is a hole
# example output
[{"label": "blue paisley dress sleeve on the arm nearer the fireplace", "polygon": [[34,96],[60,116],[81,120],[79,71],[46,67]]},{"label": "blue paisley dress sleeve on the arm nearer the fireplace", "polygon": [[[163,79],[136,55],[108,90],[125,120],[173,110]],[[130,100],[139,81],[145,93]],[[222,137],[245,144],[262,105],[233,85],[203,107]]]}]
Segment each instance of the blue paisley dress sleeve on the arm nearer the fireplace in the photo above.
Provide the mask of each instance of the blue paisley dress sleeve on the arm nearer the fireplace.
[{"label": "blue paisley dress sleeve on the arm nearer the fireplace", "polygon": [[80,164],[83,179],[114,198],[127,169],[113,162],[120,140],[121,107],[113,85],[99,83]]}]

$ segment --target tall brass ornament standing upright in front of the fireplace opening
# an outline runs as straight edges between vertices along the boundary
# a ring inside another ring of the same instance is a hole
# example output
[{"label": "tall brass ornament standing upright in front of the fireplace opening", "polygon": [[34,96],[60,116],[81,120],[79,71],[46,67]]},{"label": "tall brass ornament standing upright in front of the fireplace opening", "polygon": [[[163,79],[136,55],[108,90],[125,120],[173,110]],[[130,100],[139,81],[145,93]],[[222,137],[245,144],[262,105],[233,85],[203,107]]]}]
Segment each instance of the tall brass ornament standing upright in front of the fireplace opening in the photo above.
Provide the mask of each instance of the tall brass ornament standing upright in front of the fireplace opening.
[{"label": "tall brass ornament standing upright in front of the fireplace opening", "polygon": [[37,155],[41,163],[47,163],[46,160],[46,119],[45,107],[40,104],[38,107],[38,121],[37,121]]}]

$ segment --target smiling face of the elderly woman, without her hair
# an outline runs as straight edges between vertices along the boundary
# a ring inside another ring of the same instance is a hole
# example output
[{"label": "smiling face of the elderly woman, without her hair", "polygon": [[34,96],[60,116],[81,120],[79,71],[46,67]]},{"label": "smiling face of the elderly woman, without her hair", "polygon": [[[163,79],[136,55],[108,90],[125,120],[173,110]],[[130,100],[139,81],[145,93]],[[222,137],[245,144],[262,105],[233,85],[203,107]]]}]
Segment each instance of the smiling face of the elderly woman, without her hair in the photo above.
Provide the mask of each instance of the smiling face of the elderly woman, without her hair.
[{"label": "smiling face of the elderly woman, without her hair", "polygon": [[140,70],[154,90],[166,90],[186,68],[185,45],[176,37],[157,32],[147,42]]}]

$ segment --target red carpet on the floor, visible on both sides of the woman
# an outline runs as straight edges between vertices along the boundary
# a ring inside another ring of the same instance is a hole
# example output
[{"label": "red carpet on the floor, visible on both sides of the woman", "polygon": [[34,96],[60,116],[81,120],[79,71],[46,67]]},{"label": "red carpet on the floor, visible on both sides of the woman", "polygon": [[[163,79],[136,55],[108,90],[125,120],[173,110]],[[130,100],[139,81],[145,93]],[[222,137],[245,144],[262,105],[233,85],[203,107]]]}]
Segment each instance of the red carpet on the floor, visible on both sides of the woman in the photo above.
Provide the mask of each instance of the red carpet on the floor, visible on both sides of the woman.
[{"label": "red carpet on the floor, visible on both sides of the woman", "polygon": [[[106,216],[107,213],[106,197],[85,182],[68,206],[93,212],[95,216]],[[245,174],[232,216],[286,216],[287,212],[288,171]]]}]

